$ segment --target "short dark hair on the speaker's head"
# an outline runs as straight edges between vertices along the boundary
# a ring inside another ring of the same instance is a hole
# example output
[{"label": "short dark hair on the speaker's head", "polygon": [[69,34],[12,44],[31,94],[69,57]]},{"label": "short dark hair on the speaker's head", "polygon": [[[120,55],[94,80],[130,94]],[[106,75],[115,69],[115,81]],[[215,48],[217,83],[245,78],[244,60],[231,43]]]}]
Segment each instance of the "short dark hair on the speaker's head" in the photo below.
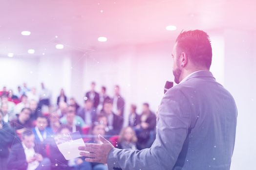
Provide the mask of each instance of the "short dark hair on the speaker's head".
[{"label": "short dark hair on the speaker's head", "polygon": [[198,66],[210,69],[212,64],[212,46],[209,35],[201,30],[184,31],[176,39],[177,55],[185,52]]}]

